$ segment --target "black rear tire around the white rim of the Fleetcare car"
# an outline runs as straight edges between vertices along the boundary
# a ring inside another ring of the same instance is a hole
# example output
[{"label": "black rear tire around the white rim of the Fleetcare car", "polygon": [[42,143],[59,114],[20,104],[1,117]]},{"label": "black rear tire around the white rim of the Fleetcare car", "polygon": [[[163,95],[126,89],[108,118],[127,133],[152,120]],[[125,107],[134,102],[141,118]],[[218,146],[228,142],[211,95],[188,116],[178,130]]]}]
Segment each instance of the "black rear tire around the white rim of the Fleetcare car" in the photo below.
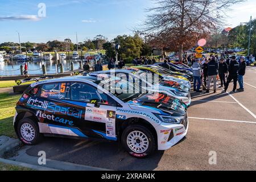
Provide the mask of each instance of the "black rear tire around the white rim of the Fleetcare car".
[{"label": "black rear tire around the white rim of the Fleetcare car", "polygon": [[[32,140],[28,140],[22,136],[21,127],[26,123],[28,125],[32,126],[32,129],[34,129],[35,135],[34,135],[34,137],[32,137]],[[40,132],[39,132],[38,125],[29,118],[25,118],[25,119],[22,119],[19,121],[18,126],[17,126],[17,133],[18,133],[18,137],[22,141],[22,143],[24,143],[28,146],[38,144],[40,142],[40,140],[42,139],[42,134],[40,134]]]}]

